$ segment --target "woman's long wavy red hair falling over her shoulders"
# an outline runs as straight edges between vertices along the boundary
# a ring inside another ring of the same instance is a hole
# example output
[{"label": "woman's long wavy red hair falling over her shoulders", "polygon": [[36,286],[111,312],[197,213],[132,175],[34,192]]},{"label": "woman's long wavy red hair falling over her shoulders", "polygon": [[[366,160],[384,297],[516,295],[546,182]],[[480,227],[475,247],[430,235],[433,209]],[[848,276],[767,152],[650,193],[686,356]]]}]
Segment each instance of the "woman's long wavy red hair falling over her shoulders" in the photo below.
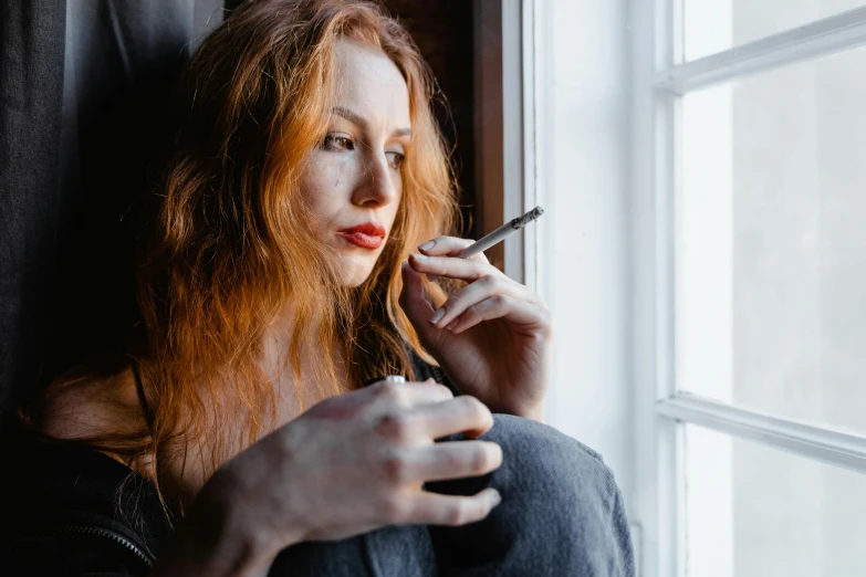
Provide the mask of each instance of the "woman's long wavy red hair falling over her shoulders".
[{"label": "woman's long wavy red hair falling over her shoulders", "polygon": [[[335,104],[341,39],[395,63],[408,86],[413,128],[390,235],[358,287],[341,284],[299,190],[305,155],[324,138]],[[397,304],[400,263],[460,224],[431,109],[435,82],[407,32],[373,2],[248,1],[202,42],[178,88],[180,125],[137,267],[147,345],[135,365],[149,430],[76,439],[129,462],[152,455],[157,487],[160,463],[177,450],[186,455],[207,439],[201,464],[209,474],[273,429],[277,391],[260,361],[263,336],[286,303],[294,306],[286,361],[302,409],[305,398],[347,389],[336,378],[334,345],[345,347],[354,382],[411,378],[407,345],[434,363]],[[427,288],[436,304],[445,302],[444,285]],[[323,352],[322,361],[302,374],[310,347]],[[67,374],[61,388],[81,378]]]}]

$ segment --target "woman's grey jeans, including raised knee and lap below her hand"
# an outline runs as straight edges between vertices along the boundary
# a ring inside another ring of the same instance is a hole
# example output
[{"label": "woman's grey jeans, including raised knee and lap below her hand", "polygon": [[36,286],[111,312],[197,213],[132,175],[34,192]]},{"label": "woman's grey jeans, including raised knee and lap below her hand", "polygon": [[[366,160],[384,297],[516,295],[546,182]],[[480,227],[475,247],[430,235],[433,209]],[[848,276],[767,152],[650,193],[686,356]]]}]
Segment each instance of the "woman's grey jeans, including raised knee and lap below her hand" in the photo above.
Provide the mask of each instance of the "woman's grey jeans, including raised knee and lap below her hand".
[{"label": "woman's grey jeans, including raised knee and lap below her hand", "polygon": [[[599,455],[552,427],[495,415],[482,437],[502,447],[491,474],[428,483],[471,495],[495,487],[502,504],[462,527],[390,526],[283,550],[270,576],[634,576],[623,497]],[[444,440],[462,440],[462,434]]]}]

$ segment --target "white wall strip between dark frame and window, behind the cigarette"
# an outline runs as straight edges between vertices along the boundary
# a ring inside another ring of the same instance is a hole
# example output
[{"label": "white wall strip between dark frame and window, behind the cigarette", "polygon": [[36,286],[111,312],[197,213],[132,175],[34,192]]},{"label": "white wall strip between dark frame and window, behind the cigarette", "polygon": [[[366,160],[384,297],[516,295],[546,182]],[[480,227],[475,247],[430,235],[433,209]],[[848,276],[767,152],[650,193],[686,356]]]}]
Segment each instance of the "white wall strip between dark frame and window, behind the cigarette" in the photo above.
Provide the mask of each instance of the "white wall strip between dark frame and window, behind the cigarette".
[{"label": "white wall strip between dark frame and window, behind the cigarette", "polygon": [[634,486],[625,0],[535,0],[539,292],[556,322],[550,424]]}]

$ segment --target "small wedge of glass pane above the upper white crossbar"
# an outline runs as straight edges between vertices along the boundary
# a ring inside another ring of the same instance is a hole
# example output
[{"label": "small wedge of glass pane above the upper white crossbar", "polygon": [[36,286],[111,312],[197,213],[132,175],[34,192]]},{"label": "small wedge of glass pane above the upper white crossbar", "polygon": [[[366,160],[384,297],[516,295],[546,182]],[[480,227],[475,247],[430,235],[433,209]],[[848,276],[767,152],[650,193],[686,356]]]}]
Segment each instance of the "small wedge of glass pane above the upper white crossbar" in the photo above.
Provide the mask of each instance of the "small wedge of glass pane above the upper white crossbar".
[{"label": "small wedge of glass pane above the upper white crossbar", "polygon": [[708,56],[862,6],[864,0],[682,0],[685,56]]}]

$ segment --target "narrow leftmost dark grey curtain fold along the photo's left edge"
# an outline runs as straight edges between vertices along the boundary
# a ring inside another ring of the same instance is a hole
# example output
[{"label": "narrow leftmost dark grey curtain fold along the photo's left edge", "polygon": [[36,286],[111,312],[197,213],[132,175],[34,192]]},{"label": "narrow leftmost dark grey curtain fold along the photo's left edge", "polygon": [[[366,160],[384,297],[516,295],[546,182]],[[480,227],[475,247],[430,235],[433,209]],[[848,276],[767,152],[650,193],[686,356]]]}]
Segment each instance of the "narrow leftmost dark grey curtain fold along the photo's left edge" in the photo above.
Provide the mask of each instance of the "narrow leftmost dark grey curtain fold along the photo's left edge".
[{"label": "narrow leftmost dark grey curtain fold along the photo's left edge", "polygon": [[41,361],[60,207],[65,4],[0,3],[0,432]]}]

